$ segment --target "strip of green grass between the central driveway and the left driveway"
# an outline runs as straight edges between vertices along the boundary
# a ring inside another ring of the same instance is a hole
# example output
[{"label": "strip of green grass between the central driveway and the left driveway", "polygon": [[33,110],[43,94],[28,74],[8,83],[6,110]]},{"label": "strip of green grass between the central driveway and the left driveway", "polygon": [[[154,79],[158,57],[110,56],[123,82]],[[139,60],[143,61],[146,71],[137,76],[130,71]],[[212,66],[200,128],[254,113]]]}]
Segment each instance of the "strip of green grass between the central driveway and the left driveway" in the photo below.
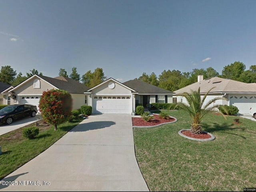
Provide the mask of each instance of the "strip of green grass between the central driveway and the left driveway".
[{"label": "strip of green grass between the central driveway and the left driveway", "polygon": [[63,123],[58,126],[57,131],[50,126],[49,129],[40,131],[39,135],[31,140],[22,136],[23,127],[1,135],[0,180],[49,148],[81,121],[82,119],[77,119],[72,123]]}]

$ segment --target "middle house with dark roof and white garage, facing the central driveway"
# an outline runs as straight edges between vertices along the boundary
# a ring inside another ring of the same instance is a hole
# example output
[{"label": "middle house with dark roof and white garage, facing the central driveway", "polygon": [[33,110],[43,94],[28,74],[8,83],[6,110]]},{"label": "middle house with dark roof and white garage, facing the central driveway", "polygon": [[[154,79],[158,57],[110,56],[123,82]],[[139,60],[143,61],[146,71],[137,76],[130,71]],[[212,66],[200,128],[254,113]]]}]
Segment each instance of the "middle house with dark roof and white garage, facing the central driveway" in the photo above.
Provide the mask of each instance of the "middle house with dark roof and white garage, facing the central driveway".
[{"label": "middle house with dark roof and white garage, facing the central driveway", "polygon": [[85,91],[92,113],[131,114],[135,105],[141,103],[172,103],[172,91],[156,87],[140,80],[120,83],[109,78]]}]

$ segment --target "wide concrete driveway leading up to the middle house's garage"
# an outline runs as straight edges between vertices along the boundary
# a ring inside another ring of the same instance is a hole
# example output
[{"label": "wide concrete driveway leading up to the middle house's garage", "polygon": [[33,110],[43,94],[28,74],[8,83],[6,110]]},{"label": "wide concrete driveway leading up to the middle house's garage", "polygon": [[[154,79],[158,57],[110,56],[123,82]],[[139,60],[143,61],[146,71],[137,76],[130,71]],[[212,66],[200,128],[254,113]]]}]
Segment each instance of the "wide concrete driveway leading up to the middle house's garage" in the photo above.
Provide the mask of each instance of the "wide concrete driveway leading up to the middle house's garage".
[{"label": "wide concrete driveway leading up to the middle house's garage", "polygon": [[4,178],[18,184],[0,185],[0,191],[148,191],[135,157],[131,118],[89,116]]}]

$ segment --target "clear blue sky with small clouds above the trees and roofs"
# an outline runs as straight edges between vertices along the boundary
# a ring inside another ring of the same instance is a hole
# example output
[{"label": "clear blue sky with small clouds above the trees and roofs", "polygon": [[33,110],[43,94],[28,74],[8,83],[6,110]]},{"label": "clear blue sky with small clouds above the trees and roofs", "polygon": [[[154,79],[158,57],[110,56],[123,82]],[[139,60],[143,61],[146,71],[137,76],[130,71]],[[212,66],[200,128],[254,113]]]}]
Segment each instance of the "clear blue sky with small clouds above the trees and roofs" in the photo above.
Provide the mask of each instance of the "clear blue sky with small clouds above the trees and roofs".
[{"label": "clear blue sky with small clouds above the trees and roofs", "polygon": [[121,82],[256,59],[255,0],[1,0],[0,66]]}]

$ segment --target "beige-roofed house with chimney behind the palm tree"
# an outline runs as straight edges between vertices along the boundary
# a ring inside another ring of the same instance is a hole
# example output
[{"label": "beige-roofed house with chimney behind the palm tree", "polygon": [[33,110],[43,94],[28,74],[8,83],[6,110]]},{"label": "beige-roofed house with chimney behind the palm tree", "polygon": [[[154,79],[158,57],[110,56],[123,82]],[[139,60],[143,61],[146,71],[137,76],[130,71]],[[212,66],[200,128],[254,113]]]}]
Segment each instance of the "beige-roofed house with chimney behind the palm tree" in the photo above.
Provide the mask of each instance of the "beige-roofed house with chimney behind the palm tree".
[{"label": "beige-roofed house with chimney behind the palm tree", "polygon": [[198,75],[198,82],[174,91],[174,97],[177,98],[177,102],[186,103],[186,99],[182,97],[182,93],[190,93],[191,90],[197,91],[199,87],[202,95],[212,87],[215,87],[210,91],[205,102],[214,97],[224,97],[226,100],[218,100],[216,103],[234,105],[238,107],[239,113],[242,114],[249,113],[250,107],[256,107],[256,83],[242,83],[220,77],[203,79],[203,75]]}]

